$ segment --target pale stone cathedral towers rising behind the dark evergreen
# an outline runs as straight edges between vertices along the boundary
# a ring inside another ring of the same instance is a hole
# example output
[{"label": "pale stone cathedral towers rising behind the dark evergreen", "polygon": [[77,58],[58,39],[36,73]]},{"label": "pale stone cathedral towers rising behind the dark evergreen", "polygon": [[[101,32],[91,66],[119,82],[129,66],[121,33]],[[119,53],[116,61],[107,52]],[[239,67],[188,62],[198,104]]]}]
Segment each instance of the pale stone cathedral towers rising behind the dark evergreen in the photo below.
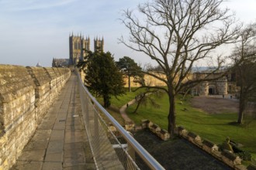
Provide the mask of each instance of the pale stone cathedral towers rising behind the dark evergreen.
[{"label": "pale stone cathedral towers rising behind the dark evergreen", "polygon": [[[86,53],[90,51],[90,38],[84,36],[69,36],[69,60],[70,65],[78,63],[84,59]],[[104,39],[94,39],[94,52],[104,52]]]}]

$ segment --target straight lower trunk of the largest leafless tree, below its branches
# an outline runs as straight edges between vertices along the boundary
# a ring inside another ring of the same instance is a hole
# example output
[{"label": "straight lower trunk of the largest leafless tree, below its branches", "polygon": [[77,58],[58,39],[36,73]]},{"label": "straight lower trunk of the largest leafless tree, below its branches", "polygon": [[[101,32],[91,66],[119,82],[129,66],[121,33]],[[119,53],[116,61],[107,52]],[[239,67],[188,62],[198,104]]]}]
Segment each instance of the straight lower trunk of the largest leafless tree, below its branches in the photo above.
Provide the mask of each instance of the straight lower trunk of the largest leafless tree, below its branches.
[{"label": "straight lower trunk of the largest leafless tree, below its branches", "polygon": [[169,95],[169,114],[168,114],[168,132],[170,135],[174,134],[176,123],[175,123],[175,95]]}]

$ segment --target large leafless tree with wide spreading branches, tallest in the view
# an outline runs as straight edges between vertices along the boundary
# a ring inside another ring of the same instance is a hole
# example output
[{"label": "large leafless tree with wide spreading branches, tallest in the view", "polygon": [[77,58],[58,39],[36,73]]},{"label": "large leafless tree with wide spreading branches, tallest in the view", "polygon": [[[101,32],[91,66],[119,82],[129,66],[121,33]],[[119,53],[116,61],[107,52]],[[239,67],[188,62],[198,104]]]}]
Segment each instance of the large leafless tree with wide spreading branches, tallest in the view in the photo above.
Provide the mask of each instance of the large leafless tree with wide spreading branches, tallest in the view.
[{"label": "large leafless tree with wide spreading branches, tallest in the view", "polygon": [[[167,85],[168,131],[175,130],[175,97],[187,87],[193,87],[209,76],[189,80],[192,66],[211,59],[213,49],[233,43],[239,26],[234,26],[234,15],[229,9],[220,8],[223,0],[153,0],[138,5],[134,15],[129,9],[123,11],[122,22],[130,32],[130,39],[119,39],[130,49],[145,53],[161,67],[165,76],[147,72]],[[216,59],[215,73],[220,70],[223,59]],[[152,87],[161,88],[161,87]]]}]

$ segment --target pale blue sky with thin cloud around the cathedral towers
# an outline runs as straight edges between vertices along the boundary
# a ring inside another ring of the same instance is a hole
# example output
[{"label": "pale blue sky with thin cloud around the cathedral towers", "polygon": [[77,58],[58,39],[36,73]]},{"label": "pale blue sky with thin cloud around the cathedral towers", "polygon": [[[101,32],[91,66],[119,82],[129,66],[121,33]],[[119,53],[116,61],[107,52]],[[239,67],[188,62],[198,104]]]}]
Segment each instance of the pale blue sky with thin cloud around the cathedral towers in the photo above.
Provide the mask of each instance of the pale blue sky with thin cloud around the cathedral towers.
[{"label": "pale blue sky with thin cloud around the cathedral towers", "polygon": [[[118,38],[128,39],[128,30],[121,24],[121,11],[133,9],[146,0],[0,0],[0,64],[51,66],[53,58],[69,58],[68,37],[104,37],[105,51],[115,60],[130,56],[144,65],[150,59],[136,53]],[[237,19],[256,21],[256,0],[225,2]]]}]

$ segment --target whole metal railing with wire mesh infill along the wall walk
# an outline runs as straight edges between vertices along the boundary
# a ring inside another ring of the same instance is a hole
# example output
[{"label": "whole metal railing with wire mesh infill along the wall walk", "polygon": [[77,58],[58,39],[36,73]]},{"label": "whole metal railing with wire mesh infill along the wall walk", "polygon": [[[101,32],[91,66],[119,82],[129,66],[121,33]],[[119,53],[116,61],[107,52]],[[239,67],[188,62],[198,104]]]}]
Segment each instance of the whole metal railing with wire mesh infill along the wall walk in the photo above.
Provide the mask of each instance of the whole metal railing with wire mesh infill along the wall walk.
[{"label": "whole metal railing with wire mesh infill along the wall walk", "polygon": [[[85,130],[97,169],[140,169],[135,158],[143,160],[147,169],[164,169],[109,113],[81,81],[78,75],[79,93]],[[119,138],[109,129],[110,122]],[[124,142],[123,142],[124,141]],[[135,154],[136,153],[136,154]],[[135,156],[136,155],[136,156]]]}]

